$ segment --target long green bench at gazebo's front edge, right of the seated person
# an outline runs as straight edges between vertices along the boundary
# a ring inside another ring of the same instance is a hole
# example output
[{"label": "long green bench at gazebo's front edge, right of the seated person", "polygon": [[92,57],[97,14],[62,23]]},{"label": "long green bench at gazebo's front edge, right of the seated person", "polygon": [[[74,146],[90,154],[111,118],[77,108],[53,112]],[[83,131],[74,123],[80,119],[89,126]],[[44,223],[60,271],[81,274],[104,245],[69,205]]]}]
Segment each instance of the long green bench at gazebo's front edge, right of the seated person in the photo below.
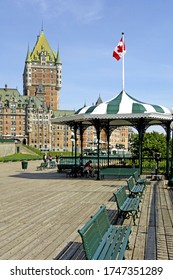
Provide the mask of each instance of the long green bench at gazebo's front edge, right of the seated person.
[{"label": "long green bench at gazebo's front edge, right of the seated person", "polygon": [[119,179],[122,177],[132,176],[138,168],[135,167],[106,167],[100,169],[100,179],[104,179],[104,176],[116,176]]}]

